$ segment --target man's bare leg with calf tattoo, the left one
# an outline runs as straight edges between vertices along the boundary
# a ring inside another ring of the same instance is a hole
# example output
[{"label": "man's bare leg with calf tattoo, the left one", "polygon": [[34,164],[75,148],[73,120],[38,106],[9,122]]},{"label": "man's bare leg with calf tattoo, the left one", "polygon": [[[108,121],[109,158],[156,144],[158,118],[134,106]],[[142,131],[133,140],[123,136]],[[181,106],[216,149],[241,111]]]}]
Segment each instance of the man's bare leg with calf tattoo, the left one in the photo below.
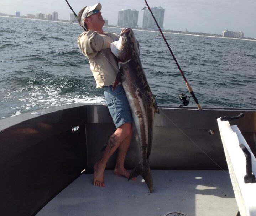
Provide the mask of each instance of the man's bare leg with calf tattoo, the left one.
[{"label": "man's bare leg with calf tattoo, the left one", "polygon": [[[108,145],[106,146],[106,149],[103,153],[102,158],[100,159],[100,161],[98,161],[94,165],[94,175],[93,175],[93,184],[94,185],[99,186],[99,187],[105,187],[103,176],[104,176],[106,164],[107,164],[109,158],[111,157],[111,155],[113,155],[113,153],[122,144],[122,142],[124,140],[126,140],[126,138],[131,136],[131,133],[132,133],[131,128],[132,128],[131,123],[125,123],[125,124],[121,125],[119,128],[117,128],[116,131],[114,132],[114,134],[112,134],[110,136]],[[131,137],[128,140],[131,140]],[[129,145],[127,146],[127,144],[125,145],[125,147],[122,147],[121,162],[122,162],[122,157],[125,157],[124,150],[126,148],[128,149],[128,147],[129,147]],[[126,149],[126,152],[127,152],[127,149]],[[126,154],[126,152],[125,152],[125,154]]]}]

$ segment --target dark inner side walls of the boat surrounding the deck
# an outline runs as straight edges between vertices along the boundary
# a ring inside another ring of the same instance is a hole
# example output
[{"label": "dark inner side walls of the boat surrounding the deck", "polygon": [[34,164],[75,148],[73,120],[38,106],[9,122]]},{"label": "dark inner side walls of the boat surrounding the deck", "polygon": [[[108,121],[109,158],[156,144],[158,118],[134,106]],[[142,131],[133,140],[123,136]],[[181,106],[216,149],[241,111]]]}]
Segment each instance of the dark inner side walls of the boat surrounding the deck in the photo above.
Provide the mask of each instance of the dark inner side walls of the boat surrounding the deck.
[{"label": "dark inner side walls of the boat surrounding the deck", "polygon": [[[3,215],[34,215],[59,191],[92,170],[101,148],[115,131],[108,108],[100,104],[71,104],[0,120],[0,203]],[[156,115],[150,156],[151,169],[226,169],[216,119],[237,115],[236,124],[251,150],[256,149],[256,110],[160,107]],[[79,126],[77,132],[72,128]],[[208,130],[214,130],[209,135]],[[125,167],[140,160],[133,137]],[[107,169],[114,169],[116,154]],[[21,201],[22,200],[22,201]],[[15,206],[15,208],[13,207]]]}]

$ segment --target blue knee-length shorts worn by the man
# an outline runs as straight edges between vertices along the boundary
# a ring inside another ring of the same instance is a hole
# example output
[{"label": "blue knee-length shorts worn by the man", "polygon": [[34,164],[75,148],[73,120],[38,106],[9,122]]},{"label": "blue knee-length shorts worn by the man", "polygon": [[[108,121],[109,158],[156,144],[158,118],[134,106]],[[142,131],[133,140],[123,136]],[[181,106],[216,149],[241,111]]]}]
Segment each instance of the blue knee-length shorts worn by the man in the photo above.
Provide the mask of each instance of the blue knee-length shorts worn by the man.
[{"label": "blue knee-length shorts worn by the man", "polygon": [[124,123],[132,123],[132,114],[122,85],[117,85],[114,91],[112,87],[104,86],[104,95],[114,124],[119,128]]}]

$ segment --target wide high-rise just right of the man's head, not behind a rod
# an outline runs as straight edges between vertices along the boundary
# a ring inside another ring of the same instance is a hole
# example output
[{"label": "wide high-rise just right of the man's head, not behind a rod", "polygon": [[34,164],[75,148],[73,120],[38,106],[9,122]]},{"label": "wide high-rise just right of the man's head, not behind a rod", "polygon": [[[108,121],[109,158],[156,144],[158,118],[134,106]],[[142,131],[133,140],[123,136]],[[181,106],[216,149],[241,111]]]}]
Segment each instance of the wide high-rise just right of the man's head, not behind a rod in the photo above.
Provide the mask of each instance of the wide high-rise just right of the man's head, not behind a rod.
[{"label": "wide high-rise just right of the man's head, not behind a rod", "polygon": [[135,9],[122,9],[118,11],[117,26],[121,28],[137,28],[139,11]]}]

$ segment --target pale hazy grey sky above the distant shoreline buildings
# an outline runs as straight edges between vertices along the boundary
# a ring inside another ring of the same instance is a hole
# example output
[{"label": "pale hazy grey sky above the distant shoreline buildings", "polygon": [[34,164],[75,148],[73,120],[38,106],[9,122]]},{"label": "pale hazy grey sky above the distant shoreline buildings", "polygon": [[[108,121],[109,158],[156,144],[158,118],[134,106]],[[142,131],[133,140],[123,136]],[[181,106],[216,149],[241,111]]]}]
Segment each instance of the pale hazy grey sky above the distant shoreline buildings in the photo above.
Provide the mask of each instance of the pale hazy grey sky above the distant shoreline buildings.
[{"label": "pale hazy grey sky above the distant shoreline buildings", "polygon": [[[84,6],[98,1],[68,0],[78,13]],[[245,37],[256,38],[256,0],[147,0],[150,7],[165,9],[164,29],[190,32],[222,34],[224,30],[243,31]],[[138,25],[142,27],[144,0],[102,0],[102,16],[110,25],[117,25],[118,11],[136,9],[139,11]],[[69,9],[65,0],[0,0],[0,12],[21,15],[28,13],[58,12],[58,18],[69,20]],[[0,27],[1,28],[1,27]]]}]

